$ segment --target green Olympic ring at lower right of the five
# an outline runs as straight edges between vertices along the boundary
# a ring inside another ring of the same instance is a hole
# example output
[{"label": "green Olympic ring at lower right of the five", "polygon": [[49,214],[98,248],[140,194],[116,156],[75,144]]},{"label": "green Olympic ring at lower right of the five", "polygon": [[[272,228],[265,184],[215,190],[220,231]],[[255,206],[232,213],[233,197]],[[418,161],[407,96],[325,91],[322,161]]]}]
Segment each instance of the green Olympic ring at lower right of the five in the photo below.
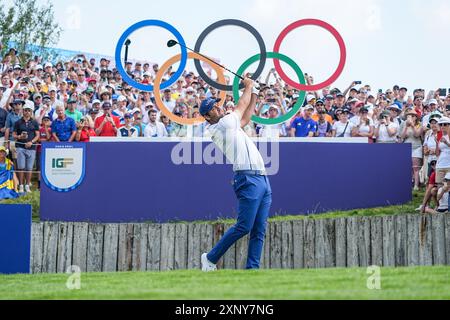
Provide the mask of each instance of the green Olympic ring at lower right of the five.
[{"label": "green Olympic ring at lower right of the five", "polygon": [[[261,58],[261,54],[256,54],[253,57],[247,59],[242,66],[239,68],[239,70],[236,72],[238,75],[242,75],[244,74],[244,71],[253,63],[259,61]],[[295,73],[297,74],[300,83],[301,84],[306,84],[306,80],[305,80],[305,76],[303,75],[303,71],[302,69],[300,69],[300,67],[295,63],[294,60],[292,60],[291,58],[289,58],[288,56],[285,56],[282,53],[278,53],[278,52],[267,52],[267,58],[271,58],[271,59],[280,59],[284,62],[286,62],[292,69],[294,69]],[[233,82],[233,97],[234,100],[236,101],[235,104],[238,103],[239,101],[239,81],[240,79],[238,77],[234,78],[234,82]],[[300,96],[297,99],[297,103],[292,107],[291,111],[289,111],[288,113],[286,113],[285,115],[278,117],[278,118],[274,118],[274,119],[267,119],[267,118],[261,118],[258,116],[253,116],[252,117],[252,121],[259,123],[259,124],[264,124],[264,125],[275,125],[275,124],[280,124],[286,121],[289,121],[290,119],[292,119],[297,112],[300,110],[300,108],[303,106],[303,103],[305,102],[306,99],[306,91],[301,91],[300,92]]]}]

